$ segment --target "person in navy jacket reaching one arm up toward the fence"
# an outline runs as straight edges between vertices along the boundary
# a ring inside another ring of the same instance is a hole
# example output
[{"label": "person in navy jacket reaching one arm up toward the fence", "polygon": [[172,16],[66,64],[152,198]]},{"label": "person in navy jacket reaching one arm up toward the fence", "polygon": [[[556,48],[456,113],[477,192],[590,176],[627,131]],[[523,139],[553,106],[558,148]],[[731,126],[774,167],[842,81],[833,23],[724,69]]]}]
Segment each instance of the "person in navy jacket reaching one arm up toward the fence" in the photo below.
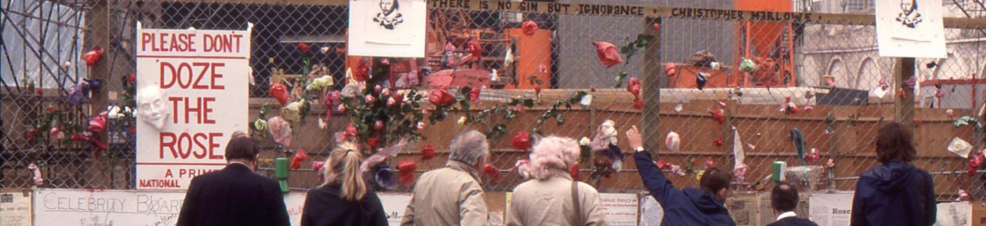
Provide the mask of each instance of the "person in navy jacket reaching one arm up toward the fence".
[{"label": "person in navy jacket reaching one arm up toward the fence", "polygon": [[701,188],[674,188],[651,155],[644,151],[644,142],[637,126],[626,132],[626,138],[630,148],[637,151],[634,161],[644,187],[665,209],[661,225],[736,225],[723,204],[730,194],[729,187],[733,181],[729,173],[711,168],[702,176],[699,182]]}]

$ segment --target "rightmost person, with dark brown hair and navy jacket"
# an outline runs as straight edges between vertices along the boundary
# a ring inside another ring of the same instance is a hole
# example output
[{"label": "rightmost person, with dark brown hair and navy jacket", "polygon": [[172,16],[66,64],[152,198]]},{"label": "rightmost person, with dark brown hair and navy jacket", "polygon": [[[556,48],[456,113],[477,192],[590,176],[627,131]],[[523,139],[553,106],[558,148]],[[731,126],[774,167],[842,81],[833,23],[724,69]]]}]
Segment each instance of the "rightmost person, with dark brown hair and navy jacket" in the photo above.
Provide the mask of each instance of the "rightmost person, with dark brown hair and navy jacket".
[{"label": "rightmost person, with dark brown hair and navy jacket", "polygon": [[853,196],[851,225],[934,225],[935,186],[928,171],[911,165],[917,156],[914,135],[891,122],[877,134],[882,165],[860,176]]}]

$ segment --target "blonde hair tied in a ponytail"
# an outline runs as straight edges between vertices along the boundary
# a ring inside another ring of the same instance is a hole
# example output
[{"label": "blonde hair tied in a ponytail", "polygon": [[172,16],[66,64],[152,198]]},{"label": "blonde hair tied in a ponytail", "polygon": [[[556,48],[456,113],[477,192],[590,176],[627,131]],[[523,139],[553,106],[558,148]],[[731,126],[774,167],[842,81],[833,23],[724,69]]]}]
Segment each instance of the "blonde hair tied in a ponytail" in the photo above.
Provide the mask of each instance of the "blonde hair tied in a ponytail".
[{"label": "blonde hair tied in a ponytail", "polygon": [[[353,143],[342,143],[332,149],[325,161],[323,174],[325,182],[320,187],[333,183],[342,184],[342,199],[357,201],[367,193],[367,183],[363,181],[360,163],[363,155]],[[340,182],[341,181],[341,182]]]}]

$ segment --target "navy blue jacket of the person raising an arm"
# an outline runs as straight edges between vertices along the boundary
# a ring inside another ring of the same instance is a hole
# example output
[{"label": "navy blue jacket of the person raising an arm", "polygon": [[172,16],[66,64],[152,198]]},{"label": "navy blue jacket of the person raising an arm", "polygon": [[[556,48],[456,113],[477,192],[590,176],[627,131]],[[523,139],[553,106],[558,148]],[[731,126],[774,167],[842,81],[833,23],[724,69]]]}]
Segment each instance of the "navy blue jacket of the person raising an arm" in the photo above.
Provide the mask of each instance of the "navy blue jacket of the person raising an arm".
[{"label": "navy blue jacket of the person raising an arm", "polygon": [[647,187],[665,210],[661,225],[736,225],[729,210],[712,193],[699,188],[674,188],[661,169],[654,164],[651,154],[642,151],[633,157],[644,187]]}]

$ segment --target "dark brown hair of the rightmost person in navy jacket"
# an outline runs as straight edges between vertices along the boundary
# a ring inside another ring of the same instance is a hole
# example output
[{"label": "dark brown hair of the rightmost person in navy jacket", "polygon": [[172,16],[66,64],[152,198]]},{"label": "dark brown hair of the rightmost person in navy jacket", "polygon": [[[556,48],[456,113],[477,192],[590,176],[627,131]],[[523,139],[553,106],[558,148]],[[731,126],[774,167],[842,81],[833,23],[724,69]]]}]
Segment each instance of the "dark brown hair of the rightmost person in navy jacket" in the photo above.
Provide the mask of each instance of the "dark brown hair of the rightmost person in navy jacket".
[{"label": "dark brown hair of the rightmost person in navy jacket", "polygon": [[916,156],[914,133],[910,128],[898,122],[890,122],[880,128],[880,133],[877,134],[877,157],[880,163],[892,159],[909,163]]}]

